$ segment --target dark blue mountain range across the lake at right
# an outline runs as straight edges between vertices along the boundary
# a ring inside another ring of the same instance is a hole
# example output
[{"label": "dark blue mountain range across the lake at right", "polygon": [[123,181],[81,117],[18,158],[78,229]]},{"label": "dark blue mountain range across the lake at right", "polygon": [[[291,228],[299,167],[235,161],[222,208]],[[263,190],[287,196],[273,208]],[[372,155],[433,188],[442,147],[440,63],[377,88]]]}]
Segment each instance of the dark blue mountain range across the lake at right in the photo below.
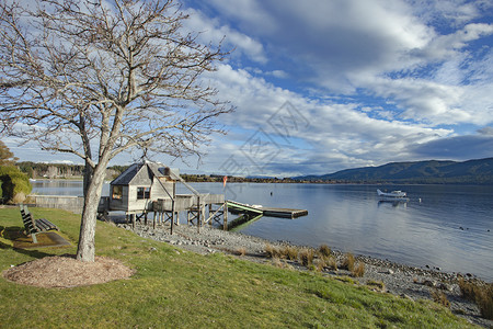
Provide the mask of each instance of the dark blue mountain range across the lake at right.
[{"label": "dark blue mountain range across the lake at right", "polygon": [[300,181],[493,184],[493,158],[457,161],[391,162],[380,167],[341,170],[323,175],[294,178]]}]

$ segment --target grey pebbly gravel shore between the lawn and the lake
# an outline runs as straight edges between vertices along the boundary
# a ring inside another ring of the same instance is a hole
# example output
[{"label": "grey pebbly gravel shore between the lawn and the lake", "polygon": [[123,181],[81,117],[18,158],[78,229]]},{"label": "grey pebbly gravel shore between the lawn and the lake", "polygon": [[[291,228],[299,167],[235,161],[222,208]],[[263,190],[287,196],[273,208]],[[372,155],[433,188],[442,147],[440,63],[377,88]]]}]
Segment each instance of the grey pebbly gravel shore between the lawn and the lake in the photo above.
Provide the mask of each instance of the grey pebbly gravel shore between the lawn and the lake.
[{"label": "grey pebbly gravel shore between the lawn and the lake", "polygon": [[[117,225],[122,228],[133,230],[129,224]],[[152,229],[150,226],[137,223],[134,231],[141,237],[167,242],[200,254],[223,252],[261,263],[274,263],[272,259],[266,257],[266,246],[284,247],[287,245],[282,241],[268,241],[210,227],[203,227],[200,228],[200,232],[197,232],[196,227],[187,225],[175,225],[173,227],[173,235],[170,235],[169,225],[158,226],[156,229]],[[345,258],[344,253],[341,251],[332,251],[332,253],[337,260],[337,263],[342,263]],[[485,328],[493,328],[493,321],[481,318],[475,304],[461,297],[461,292],[457,284],[459,274],[444,273],[436,269],[413,268],[366,256],[356,256],[356,262],[365,263],[364,276],[352,277],[358,284],[368,284],[369,282],[383,283],[383,292],[411,300],[420,298],[433,299],[432,293],[438,291],[444,293],[450,302],[450,310],[452,313],[465,317],[472,324]],[[296,270],[307,271],[307,268],[297,261],[284,261],[284,264]],[[345,270],[324,270],[322,274],[334,277],[347,277],[351,275]],[[380,290],[374,285],[369,285],[369,287],[376,291]]]}]

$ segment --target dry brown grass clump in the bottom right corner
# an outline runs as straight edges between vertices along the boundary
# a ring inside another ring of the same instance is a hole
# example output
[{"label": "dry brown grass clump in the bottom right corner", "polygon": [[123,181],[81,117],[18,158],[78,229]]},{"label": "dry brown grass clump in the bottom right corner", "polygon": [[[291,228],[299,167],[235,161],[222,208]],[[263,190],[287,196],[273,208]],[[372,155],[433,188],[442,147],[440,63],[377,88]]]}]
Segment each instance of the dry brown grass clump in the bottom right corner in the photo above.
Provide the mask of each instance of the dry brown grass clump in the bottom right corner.
[{"label": "dry brown grass clump in the bottom right corner", "polygon": [[493,320],[493,283],[484,284],[459,279],[459,287],[465,298],[478,304],[483,318]]}]

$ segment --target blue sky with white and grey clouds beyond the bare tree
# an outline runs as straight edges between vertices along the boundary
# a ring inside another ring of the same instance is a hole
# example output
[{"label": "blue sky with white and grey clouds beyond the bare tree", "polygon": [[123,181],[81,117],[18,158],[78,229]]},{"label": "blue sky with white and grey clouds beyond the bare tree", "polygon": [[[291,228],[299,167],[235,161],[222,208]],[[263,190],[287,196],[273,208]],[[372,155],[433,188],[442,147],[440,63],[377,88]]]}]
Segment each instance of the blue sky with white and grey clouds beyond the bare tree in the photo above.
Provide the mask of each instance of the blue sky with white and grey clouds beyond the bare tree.
[{"label": "blue sky with white and grey clouds beyond the bare tree", "polygon": [[233,49],[205,78],[237,110],[219,118],[229,133],[200,163],[173,162],[181,172],[288,177],[493,157],[491,0],[182,2],[186,29]]}]

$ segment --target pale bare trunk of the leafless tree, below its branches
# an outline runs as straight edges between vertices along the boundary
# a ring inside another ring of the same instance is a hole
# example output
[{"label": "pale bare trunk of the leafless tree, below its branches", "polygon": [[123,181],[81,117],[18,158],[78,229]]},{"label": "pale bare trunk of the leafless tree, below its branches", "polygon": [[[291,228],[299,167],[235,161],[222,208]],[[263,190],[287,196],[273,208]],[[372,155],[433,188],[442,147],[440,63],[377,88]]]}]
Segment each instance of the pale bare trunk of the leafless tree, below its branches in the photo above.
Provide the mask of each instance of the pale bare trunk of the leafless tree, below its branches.
[{"label": "pale bare trunk of the leafless tree, below its branches", "polygon": [[79,245],[77,248],[77,259],[84,262],[94,261],[94,235],[98,219],[98,205],[103,190],[106,163],[100,162],[96,166],[95,170],[92,172],[91,179],[88,181],[88,189],[84,193],[84,207],[82,209]]}]

